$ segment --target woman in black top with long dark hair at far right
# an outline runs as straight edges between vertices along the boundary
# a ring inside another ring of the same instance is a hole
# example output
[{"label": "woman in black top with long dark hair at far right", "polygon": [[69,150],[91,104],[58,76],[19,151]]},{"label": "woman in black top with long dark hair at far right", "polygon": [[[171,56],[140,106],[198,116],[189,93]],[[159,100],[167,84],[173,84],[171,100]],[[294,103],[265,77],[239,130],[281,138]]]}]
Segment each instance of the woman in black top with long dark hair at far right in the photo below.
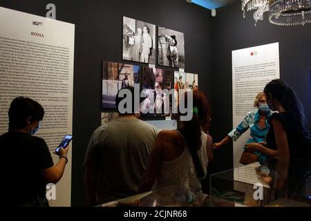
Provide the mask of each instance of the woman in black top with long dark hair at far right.
[{"label": "woman in black top with long dark hair at far right", "polygon": [[303,143],[306,135],[303,106],[294,90],[281,79],[274,79],[264,92],[271,110],[279,112],[270,118],[267,146],[276,150],[277,155],[310,159],[311,146]]}]

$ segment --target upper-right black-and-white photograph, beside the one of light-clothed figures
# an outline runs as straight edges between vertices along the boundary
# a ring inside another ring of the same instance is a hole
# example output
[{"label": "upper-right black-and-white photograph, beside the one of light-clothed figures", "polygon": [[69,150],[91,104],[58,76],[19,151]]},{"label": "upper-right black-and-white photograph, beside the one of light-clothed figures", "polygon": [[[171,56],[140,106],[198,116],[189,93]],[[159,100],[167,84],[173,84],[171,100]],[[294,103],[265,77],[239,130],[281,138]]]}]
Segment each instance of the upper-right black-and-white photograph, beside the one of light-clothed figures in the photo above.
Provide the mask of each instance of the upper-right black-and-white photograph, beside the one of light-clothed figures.
[{"label": "upper-right black-and-white photograph, beside the one of light-clothed figures", "polygon": [[158,64],[185,68],[185,40],[182,32],[158,27]]}]

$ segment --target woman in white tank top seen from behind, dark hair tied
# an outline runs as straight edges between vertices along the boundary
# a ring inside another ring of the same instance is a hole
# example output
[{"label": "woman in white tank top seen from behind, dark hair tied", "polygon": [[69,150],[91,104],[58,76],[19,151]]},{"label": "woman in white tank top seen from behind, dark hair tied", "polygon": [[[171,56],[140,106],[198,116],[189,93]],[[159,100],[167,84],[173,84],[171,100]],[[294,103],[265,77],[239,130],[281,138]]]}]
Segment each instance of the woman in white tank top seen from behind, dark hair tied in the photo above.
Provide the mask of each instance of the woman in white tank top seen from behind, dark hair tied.
[{"label": "woman in white tank top seen from behind, dark hair tied", "polygon": [[[185,97],[187,98],[187,93]],[[185,100],[187,105],[187,99]],[[179,121],[178,130],[158,133],[149,156],[149,164],[138,192],[180,186],[194,193],[201,193],[202,186],[191,153],[197,153],[200,166],[207,174],[207,164],[212,160],[212,139],[202,131],[210,120],[207,97],[200,91],[193,92],[193,117]]]}]

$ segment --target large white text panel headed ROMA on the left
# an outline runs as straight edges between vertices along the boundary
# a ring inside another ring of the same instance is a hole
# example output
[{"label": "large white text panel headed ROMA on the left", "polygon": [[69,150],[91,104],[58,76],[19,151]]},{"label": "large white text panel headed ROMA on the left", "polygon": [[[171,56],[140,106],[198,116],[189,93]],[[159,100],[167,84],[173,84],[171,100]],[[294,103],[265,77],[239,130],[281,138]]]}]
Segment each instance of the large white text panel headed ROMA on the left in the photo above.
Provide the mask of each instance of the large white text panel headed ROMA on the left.
[{"label": "large white text panel headed ROMA on the left", "polygon": [[[50,153],[72,134],[75,25],[0,7],[0,134],[8,131],[8,108],[15,97],[44,107],[44,138]],[[73,143],[75,137],[73,136]],[[54,163],[58,157],[52,154]],[[51,206],[70,206],[71,147],[64,176]]]}]

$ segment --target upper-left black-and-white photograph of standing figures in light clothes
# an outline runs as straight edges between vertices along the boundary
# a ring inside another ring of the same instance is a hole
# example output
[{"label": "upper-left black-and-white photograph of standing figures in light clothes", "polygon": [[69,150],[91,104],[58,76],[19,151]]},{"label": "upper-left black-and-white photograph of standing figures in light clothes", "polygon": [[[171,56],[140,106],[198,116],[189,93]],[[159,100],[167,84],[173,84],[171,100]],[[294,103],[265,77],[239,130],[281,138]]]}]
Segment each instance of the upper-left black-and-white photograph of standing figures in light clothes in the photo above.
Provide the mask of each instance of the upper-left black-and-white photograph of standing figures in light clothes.
[{"label": "upper-left black-and-white photograph of standing figures in light clothes", "polygon": [[128,61],[156,64],[156,26],[123,17],[123,52]]}]

